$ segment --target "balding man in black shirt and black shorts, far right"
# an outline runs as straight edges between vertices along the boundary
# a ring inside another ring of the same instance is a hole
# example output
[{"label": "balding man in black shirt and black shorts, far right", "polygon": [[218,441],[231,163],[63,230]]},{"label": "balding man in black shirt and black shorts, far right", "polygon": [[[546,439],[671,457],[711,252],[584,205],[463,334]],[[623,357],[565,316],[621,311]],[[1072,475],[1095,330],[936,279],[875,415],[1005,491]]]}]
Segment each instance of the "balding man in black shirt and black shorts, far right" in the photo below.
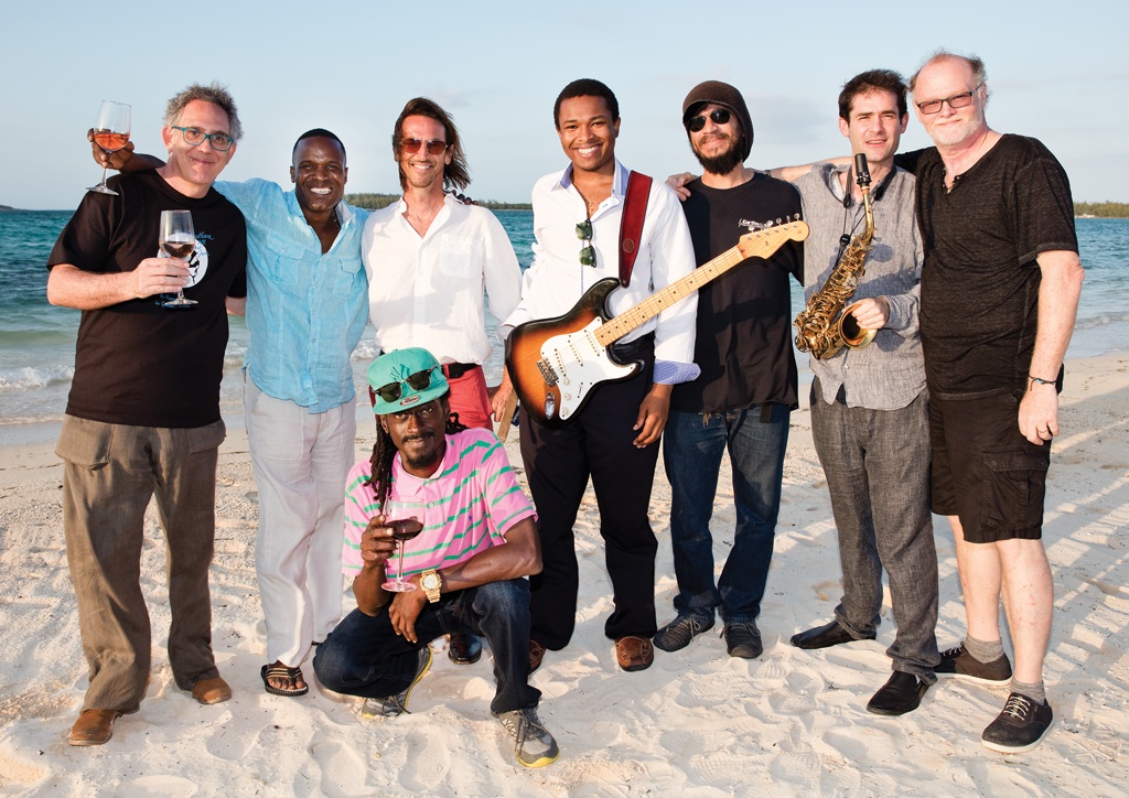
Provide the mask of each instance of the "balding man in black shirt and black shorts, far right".
[{"label": "balding man in black shirt and black shorts, far right", "polygon": [[981,742],[1023,752],[1052,720],[1042,669],[1054,590],[1041,535],[1083,280],[1070,187],[1039,141],[988,126],[980,59],[939,53],[910,90],[936,144],[916,159],[933,511],[953,526],[968,617],[965,641],[943,652],[937,675],[1010,679]]}]

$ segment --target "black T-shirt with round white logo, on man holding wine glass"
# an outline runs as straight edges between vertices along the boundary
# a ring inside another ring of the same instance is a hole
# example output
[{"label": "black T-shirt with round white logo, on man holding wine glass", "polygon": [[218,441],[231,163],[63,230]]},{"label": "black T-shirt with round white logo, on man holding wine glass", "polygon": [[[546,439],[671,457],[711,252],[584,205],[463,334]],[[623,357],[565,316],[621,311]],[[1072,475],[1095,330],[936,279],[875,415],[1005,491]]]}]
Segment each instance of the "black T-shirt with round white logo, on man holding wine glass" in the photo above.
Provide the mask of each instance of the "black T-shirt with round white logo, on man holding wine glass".
[{"label": "black T-shirt with round white logo, on man holding wine glass", "polygon": [[156,172],[112,178],[117,196],[89,192],[51,252],[47,268],[128,272],[158,257],[160,212],[192,211],[198,305],[165,308],[160,297],[84,310],[67,413],[138,427],[203,427],[219,420],[228,325],[225,299],[244,297],[247,233],[243,214],[215,188],[201,199],[173,190]]}]

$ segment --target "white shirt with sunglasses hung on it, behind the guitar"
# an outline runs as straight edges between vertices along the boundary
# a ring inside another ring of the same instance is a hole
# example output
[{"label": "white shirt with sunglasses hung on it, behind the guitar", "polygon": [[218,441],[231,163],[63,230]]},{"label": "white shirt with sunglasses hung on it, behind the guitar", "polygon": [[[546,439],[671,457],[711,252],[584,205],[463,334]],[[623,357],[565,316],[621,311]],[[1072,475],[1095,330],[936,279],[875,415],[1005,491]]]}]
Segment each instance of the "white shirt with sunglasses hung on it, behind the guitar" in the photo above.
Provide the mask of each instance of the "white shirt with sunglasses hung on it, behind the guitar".
[{"label": "white shirt with sunglasses hung on it, behind the guitar", "polygon": [[[584,198],[572,185],[572,167],[554,172],[533,187],[533,265],[525,272],[522,302],[505,319],[517,326],[536,318],[552,318],[568,313],[584,292],[598,280],[620,274],[620,220],[628,169],[618,160],[612,194],[592,214],[592,245],[596,265],[580,263],[584,242],[576,226],[587,218]],[[694,270],[690,229],[679,199],[662,181],[654,181],[647,202],[631,283],[612,291],[609,309],[622,314]],[[633,341],[655,333],[655,359],[672,363],[692,363],[697,293],[672,305],[637,327],[622,341]],[[679,382],[679,380],[673,380]]]}]

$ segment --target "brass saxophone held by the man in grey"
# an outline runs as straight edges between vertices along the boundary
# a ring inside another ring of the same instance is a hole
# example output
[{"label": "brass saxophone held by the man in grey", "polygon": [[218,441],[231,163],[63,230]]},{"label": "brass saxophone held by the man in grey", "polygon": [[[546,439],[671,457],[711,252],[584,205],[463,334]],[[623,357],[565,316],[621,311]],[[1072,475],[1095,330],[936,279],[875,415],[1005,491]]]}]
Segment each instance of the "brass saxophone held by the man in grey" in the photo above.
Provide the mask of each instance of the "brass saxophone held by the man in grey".
[{"label": "brass saxophone held by the man in grey", "polygon": [[866,229],[855,236],[842,251],[826,283],[812,295],[807,307],[800,310],[794,322],[799,331],[796,348],[802,352],[811,352],[816,360],[834,357],[843,344],[851,348],[865,347],[877,333],[876,330],[864,330],[855,321],[851,312],[858,302],[847,306],[863,279],[863,263],[870,252],[870,242],[874,240],[870,170],[866,165],[866,156],[861,152],[855,156],[855,172],[858,174],[858,187],[863,192],[863,204],[866,208]]}]

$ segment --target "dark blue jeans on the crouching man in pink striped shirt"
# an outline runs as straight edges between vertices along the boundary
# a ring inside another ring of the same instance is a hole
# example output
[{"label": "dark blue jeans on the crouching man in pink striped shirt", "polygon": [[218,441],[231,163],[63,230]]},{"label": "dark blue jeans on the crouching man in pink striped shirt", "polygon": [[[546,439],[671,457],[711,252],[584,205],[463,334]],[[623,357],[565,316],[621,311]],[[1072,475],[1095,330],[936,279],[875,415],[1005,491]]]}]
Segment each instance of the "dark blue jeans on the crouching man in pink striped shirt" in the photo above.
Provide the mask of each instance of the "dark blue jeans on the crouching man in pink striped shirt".
[{"label": "dark blue jeans on the crouching man in pink striped shirt", "polygon": [[415,619],[417,642],[396,634],[385,606],[376,615],[353,610],[317,647],[314,670],[338,693],[384,699],[415,677],[417,652],[438,637],[480,634],[493,652],[498,689],[495,714],[536,707],[541,691],[530,678],[530,582],[507,579],[444,595]]}]

